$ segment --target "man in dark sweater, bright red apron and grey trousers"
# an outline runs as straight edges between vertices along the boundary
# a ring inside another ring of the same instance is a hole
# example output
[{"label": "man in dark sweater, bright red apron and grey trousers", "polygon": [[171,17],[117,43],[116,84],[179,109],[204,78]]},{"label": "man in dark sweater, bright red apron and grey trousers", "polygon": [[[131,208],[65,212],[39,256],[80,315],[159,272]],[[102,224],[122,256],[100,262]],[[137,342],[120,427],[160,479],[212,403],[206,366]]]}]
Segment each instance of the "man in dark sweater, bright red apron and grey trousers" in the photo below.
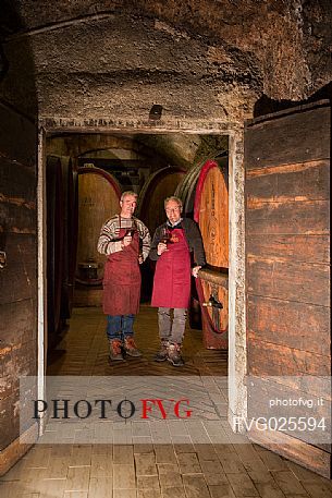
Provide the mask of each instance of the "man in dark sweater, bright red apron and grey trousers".
[{"label": "man in dark sweater, bright red apron and grey trousers", "polygon": [[[182,202],[172,196],[164,201],[167,222],[157,228],[149,257],[157,260],[151,305],[157,306],[160,351],[155,360],[184,364],[181,344],[190,296],[190,275],[197,277],[206,264],[198,226],[182,217]],[[194,253],[192,269],[190,253]],[[173,319],[171,311],[173,309]]]}]

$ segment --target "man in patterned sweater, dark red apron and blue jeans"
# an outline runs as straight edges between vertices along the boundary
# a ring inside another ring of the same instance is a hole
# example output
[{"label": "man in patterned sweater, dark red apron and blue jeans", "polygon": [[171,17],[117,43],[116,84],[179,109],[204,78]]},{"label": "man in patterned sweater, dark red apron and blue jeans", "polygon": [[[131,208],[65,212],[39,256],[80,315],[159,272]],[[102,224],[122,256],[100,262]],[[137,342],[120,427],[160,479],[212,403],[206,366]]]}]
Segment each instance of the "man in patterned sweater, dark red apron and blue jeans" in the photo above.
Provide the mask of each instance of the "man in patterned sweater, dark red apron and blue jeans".
[{"label": "man in patterned sweater, dark red apron and blue jeans", "polygon": [[137,194],[124,192],[120,199],[120,215],[110,218],[101,228],[98,252],[107,255],[103,275],[102,307],[107,315],[107,337],[110,360],[140,356],[134,341],[133,324],[139,308],[142,264],[150,250],[147,227],[134,211]]}]

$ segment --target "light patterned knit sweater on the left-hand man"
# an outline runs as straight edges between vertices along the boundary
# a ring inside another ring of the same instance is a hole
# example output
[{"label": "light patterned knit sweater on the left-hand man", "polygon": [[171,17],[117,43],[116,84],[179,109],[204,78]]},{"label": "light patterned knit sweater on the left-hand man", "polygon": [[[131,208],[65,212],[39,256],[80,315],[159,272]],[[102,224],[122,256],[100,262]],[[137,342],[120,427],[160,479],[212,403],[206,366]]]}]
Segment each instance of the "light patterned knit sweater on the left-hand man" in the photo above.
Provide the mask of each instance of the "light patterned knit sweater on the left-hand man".
[{"label": "light patterned knit sweater on the left-hand man", "polygon": [[[122,241],[119,240],[119,215],[114,215],[102,226],[97,244],[98,253],[106,254],[108,256],[109,254],[123,251],[121,246]],[[142,255],[143,259],[145,260],[149,255],[151,245],[151,238],[147,227],[144,224],[143,221],[133,216],[132,218],[121,218],[121,228],[134,228],[138,231],[139,239],[142,239]]]}]

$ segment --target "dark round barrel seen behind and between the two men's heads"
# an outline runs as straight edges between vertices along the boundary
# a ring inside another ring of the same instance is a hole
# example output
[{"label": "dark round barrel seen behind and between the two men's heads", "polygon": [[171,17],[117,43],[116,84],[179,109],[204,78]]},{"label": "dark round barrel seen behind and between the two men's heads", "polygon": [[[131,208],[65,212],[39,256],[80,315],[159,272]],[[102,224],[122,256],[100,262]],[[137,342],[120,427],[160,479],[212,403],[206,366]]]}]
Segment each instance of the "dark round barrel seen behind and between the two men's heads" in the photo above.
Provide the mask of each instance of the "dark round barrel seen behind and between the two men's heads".
[{"label": "dark round barrel seen behind and between the two men's heads", "polygon": [[144,184],[138,197],[137,214],[150,230],[151,236],[156,228],[165,220],[164,198],[174,195],[184,175],[184,169],[169,166],[156,171]]}]

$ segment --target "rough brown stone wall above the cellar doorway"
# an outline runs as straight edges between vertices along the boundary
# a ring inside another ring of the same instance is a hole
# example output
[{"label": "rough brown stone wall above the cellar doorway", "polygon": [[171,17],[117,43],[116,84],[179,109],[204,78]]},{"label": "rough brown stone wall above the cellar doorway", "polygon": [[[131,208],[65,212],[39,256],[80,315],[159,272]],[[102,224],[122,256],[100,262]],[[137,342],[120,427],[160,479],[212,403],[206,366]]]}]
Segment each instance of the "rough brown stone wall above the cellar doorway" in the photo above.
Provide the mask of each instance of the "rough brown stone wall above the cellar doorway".
[{"label": "rough brown stone wall above the cellar doorway", "polygon": [[[40,116],[242,122],[255,101],[307,98],[331,80],[328,0],[21,0]],[[22,94],[8,77],[3,92]],[[33,92],[33,88],[32,88]],[[11,97],[11,99],[13,96]],[[29,101],[24,105],[29,111]]]}]

